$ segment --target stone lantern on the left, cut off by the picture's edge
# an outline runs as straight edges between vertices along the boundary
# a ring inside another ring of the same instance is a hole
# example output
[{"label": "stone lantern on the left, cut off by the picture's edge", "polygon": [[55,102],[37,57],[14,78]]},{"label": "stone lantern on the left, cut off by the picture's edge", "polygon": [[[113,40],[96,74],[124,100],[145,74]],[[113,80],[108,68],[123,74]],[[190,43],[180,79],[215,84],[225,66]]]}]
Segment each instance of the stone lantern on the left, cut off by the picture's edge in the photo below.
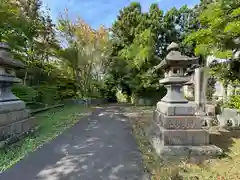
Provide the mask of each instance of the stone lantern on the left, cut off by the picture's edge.
[{"label": "stone lantern on the left, cut off by the picture's edge", "polygon": [[19,68],[24,68],[24,64],[13,60],[8,45],[0,43],[0,141],[35,126],[35,118],[25,103],[11,92],[13,83],[21,82],[15,75]]}]

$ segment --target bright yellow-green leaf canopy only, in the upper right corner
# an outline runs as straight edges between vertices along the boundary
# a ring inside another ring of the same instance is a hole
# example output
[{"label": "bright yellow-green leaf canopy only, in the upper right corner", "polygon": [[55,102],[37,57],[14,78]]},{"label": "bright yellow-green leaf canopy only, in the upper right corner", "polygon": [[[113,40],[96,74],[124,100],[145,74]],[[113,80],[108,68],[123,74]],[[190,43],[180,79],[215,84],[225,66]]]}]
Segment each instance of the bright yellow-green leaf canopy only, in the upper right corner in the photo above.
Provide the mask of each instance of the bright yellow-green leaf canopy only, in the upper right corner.
[{"label": "bright yellow-green leaf canopy only, in the upper right corner", "polygon": [[203,9],[202,6],[199,7],[201,13],[198,12],[201,28],[191,33],[185,43],[196,45],[196,55],[213,54],[220,58],[231,58],[231,51],[236,47],[233,40],[240,36],[240,1],[217,0],[205,4]]}]

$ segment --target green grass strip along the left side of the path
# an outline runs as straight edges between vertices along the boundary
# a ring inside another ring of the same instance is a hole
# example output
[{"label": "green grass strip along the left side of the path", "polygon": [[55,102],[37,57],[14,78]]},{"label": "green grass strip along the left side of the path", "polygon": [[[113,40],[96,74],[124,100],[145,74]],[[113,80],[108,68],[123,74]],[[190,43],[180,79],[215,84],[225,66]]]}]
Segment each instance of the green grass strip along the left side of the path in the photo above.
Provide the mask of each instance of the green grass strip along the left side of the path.
[{"label": "green grass strip along the left side of the path", "polygon": [[34,136],[0,150],[0,172],[10,168],[28,153],[57,137],[77,123],[79,118],[90,109],[80,105],[71,105],[36,114],[35,117],[40,128]]}]

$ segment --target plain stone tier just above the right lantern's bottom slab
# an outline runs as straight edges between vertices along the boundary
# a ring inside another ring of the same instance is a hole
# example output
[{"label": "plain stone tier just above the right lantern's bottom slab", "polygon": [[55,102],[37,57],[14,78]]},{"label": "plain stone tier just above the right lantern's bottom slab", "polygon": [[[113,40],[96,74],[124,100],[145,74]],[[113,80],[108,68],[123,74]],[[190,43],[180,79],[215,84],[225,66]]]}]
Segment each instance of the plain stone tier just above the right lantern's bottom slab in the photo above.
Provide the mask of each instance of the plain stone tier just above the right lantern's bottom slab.
[{"label": "plain stone tier just above the right lantern's bottom slab", "polygon": [[163,145],[207,145],[209,133],[204,129],[165,129],[158,126],[156,138]]}]

